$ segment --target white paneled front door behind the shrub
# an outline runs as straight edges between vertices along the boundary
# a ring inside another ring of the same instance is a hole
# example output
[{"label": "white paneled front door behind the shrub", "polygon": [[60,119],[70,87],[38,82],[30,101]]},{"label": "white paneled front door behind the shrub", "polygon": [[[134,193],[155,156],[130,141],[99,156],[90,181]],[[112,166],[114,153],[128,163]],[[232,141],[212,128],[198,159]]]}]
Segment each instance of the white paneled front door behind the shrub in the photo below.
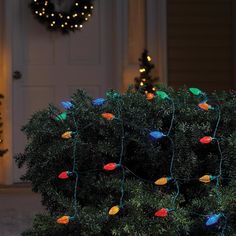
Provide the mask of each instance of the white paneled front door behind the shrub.
[{"label": "white paneled front door behind the shrub", "polygon": [[[112,38],[114,1],[95,0],[93,15],[83,30],[68,35],[49,32],[32,15],[29,1],[13,2],[13,71],[22,74],[13,81],[16,154],[25,147],[21,128],[35,111],[49,103],[59,105],[78,88],[97,97],[117,83]],[[14,182],[20,181],[23,172],[14,164]]]}]

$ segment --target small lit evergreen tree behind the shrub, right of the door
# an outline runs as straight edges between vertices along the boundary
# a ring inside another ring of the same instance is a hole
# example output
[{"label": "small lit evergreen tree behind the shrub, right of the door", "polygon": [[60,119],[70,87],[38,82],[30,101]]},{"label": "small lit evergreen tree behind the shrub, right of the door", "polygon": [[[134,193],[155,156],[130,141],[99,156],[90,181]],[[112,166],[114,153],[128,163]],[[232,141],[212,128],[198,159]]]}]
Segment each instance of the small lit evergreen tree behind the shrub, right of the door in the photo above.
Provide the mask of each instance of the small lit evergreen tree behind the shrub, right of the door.
[{"label": "small lit evergreen tree behind the shrub, right of the door", "polygon": [[158,78],[151,76],[151,71],[154,64],[151,63],[151,57],[148,55],[148,50],[144,50],[141,58],[139,58],[139,77],[135,78],[135,89],[141,93],[154,93],[156,91],[155,83]]}]

